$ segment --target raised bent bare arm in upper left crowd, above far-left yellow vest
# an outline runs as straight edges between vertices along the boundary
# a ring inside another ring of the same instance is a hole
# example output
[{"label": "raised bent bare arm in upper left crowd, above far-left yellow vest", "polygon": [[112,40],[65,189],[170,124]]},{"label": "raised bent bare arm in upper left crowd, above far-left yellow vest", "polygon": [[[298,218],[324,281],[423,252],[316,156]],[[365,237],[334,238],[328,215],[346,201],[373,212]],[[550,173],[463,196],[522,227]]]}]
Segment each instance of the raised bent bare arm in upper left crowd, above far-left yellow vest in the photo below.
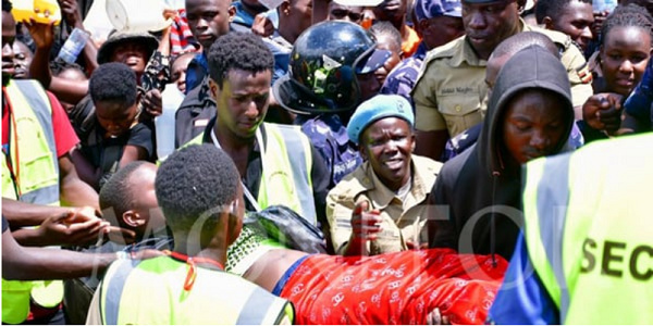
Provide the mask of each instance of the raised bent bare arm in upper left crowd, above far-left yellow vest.
[{"label": "raised bent bare arm in upper left crowd, above far-left yellow vest", "polygon": [[59,100],[77,103],[88,92],[88,80],[73,82],[52,76],[49,55],[54,40],[54,24],[24,22],[36,45],[34,59],[29,65],[29,76],[37,79],[44,88],[53,92]]}]

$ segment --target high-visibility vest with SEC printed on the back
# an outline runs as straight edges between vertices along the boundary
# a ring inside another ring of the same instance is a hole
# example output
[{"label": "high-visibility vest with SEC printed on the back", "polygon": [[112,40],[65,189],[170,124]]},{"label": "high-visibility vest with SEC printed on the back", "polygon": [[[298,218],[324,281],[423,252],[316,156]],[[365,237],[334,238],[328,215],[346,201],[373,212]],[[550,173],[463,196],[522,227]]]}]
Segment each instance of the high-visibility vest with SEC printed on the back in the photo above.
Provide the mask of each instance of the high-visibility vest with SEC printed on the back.
[{"label": "high-visibility vest with SEC printed on the back", "polygon": [[529,162],[526,243],[564,324],[653,324],[653,135]]}]

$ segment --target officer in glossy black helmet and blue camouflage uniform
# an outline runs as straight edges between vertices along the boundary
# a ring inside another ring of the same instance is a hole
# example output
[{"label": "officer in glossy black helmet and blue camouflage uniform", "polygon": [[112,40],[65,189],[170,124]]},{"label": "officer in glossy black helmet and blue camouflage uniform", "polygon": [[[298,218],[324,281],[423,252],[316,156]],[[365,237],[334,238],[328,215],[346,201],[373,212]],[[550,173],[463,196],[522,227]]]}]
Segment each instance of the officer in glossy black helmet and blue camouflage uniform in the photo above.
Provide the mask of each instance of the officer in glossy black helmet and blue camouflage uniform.
[{"label": "officer in glossy black helmet and blue camouflage uniform", "polygon": [[274,98],[297,113],[295,124],[326,162],[330,188],[362,163],[345,126],[381,87],[374,71],[391,53],[375,47],[374,36],[354,23],[313,25],[295,41],[288,74],[273,87]]}]

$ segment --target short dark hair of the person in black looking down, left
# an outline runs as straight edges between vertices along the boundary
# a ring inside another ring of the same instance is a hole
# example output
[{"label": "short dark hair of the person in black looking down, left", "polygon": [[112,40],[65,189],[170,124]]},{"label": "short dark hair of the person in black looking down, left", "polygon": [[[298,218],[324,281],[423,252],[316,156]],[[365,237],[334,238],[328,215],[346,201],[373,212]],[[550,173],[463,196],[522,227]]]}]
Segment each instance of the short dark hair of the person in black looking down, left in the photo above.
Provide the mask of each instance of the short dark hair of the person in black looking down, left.
[{"label": "short dark hair of the person in black looking down, left", "polygon": [[138,92],[136,73],[124,63],[101,64],[90,75],[88,89],[94,102],[134,105]]}]

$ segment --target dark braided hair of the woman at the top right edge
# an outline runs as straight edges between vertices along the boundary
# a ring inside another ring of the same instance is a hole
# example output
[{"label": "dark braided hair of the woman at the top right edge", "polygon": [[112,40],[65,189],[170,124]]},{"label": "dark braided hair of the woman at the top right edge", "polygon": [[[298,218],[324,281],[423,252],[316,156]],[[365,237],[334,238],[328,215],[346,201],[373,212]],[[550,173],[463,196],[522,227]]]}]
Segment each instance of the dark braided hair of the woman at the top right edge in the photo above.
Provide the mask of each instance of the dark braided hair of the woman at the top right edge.
[{"label": "dark braided hair of the woman at the top right edge", "polygon": [[653,41],[653,17],[645,8],[634,3],[627,5],[617,5],[615,10],[605,18],[601,29],[602,45],[605,45],[607,34],[614,27],[640,27],[649,32],[651,41]]}]

